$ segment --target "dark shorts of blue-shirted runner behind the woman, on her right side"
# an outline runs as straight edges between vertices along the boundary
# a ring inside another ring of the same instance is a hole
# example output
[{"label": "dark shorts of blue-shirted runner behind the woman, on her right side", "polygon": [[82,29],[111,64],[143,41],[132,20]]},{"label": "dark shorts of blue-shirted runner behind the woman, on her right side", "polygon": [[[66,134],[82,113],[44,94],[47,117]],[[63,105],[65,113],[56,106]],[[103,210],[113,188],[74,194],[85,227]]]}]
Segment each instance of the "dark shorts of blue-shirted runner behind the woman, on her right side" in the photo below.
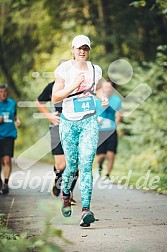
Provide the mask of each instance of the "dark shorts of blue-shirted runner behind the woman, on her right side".
[{"label": "dark shorts of blue-shirted runner behind the woman, on her right side", "polygon": [[117,153],[117,131],[99,131],[99,143],[96,154],[106,154],[107,151]]}]

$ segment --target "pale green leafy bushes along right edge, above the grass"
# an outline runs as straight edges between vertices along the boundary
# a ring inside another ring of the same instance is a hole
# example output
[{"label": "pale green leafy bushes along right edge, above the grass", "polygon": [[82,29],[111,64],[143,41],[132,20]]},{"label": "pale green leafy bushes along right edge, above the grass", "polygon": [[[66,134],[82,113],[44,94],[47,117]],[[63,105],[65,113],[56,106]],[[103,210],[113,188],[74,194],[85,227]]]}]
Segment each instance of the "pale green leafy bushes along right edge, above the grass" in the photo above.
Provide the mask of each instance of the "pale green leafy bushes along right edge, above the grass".
[{"label": "pale green leafy bushes along right edge, above the grass", "polygon": [[[139,150],[139,167],[142,159],[148,160],[145,170],[150,168],[154,172],[167,171],[166,146],[167,130],[165,127],[166,107],[166,67],[164,53],[158,52],[155,63],[145,63],[141,77],[152,88],[151,96],[135,111],[130,118],[125,118],[129,126],[128,139],[133,150]],[[134,77],[134,82],[136,82]],[[139,84],[140,82],[138,82]],[[136,83],[137,84],[137,83]],[[126,124],[123,126],[127,130]]]}]

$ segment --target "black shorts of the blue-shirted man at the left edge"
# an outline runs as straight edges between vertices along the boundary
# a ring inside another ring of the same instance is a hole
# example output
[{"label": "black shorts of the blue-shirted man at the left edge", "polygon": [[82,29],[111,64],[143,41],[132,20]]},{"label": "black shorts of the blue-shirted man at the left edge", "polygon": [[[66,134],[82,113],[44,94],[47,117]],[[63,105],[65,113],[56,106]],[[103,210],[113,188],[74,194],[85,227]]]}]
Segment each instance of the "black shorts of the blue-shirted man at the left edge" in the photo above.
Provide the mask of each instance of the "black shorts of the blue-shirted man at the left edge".
[{"label": "black shorts of the blue-shirted man at the left edge", "polygon": [[6,137],[0,139],[0,158],[4,156],[13,157],[14,154],[14,141],[13,137]]}]

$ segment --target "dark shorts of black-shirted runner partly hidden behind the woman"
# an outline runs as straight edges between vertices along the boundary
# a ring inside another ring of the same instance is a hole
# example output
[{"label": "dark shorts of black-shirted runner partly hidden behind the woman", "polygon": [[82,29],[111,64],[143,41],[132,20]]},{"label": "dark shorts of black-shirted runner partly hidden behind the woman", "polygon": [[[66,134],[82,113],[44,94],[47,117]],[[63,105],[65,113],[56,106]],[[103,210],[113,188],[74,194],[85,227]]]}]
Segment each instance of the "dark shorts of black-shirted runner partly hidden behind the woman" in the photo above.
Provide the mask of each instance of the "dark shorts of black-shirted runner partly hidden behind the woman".
[{"label": "dark shorts of black-shirted runner partly hidden behind the woman", "polygon": [[50,127],[51,149],[53,155],[64,155],[64,151],[60,142],[59,126],[53,125]]}]

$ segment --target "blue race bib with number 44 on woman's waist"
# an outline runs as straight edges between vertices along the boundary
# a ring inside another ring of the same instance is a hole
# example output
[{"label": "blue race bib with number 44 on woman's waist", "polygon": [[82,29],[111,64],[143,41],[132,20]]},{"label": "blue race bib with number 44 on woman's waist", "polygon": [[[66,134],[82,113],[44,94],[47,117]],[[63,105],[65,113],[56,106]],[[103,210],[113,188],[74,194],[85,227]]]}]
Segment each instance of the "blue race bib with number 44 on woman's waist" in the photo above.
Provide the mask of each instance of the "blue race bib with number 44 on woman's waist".
[{"label": "blue race bib with number 44 on woman's waist", "polygon": [[74,98],[73,104],[75,113],[95,110],[95,103],[92,96]]}]

